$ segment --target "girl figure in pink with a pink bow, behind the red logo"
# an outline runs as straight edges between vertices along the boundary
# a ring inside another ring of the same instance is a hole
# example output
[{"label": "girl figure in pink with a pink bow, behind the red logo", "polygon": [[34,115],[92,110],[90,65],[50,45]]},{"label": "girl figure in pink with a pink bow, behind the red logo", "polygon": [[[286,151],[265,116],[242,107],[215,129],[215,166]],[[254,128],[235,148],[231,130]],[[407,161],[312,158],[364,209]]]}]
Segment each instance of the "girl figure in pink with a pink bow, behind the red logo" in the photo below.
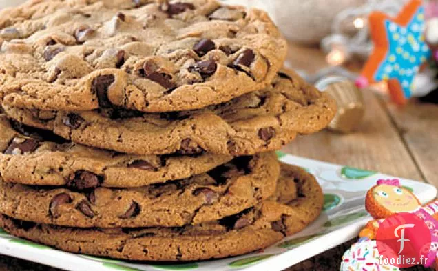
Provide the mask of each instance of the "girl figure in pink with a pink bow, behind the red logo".
[{"label": "girl figure in pink with a pink bow, behind the red logo", "polygon": [[360,237],[369,239],[375,239],[379,225],[393,214],[408,212],[420,217],[428,226],[432,241],[425,266],[429,267],[434,263],[437,254],[435,247],[438,245],[438,201],[422,206],[410,190],[400,186],[398,179],[379,180],[377,185],[368,190],[365,207],[371,216],[377,219],[368,222],[359,234]]}]

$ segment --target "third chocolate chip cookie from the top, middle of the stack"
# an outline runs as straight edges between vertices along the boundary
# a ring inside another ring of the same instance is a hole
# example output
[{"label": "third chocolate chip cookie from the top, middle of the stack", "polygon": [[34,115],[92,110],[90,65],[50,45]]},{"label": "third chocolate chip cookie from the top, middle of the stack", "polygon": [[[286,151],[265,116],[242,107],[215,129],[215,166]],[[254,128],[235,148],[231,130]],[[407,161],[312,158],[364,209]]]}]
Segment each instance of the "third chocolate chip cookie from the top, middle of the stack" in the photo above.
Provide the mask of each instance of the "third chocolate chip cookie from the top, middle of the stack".
[{"label": "third chocolate chip cookie from the top, middle of the stack", "polygon": [[213,154],[138,156],[87,148],[2,114],[0,131],[0,176],[12,183],[79,190],[132,188],[191,177],[232,159]]}]

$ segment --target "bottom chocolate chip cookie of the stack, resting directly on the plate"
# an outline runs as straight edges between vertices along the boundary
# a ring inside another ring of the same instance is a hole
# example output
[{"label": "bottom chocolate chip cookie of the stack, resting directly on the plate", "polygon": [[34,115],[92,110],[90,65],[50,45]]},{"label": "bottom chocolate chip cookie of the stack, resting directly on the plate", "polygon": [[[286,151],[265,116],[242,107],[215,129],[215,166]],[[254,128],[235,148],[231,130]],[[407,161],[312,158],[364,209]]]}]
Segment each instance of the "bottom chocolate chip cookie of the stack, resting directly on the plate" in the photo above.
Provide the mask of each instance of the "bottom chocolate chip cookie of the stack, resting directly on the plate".
[{"label": "bottom chocolate chip cookie of the stack, resting directly on the plate", "polygon": [[318,217],[323,194],[309,173],[282,165],[278,186],[282,189],[269,200],[240,214],[182,228],[79,229],[19,221],[4,215],[0,217],[0,227],[17,237],[61,250],[102,257],[139,261],[223,258],[273,245],[300,232]]}]

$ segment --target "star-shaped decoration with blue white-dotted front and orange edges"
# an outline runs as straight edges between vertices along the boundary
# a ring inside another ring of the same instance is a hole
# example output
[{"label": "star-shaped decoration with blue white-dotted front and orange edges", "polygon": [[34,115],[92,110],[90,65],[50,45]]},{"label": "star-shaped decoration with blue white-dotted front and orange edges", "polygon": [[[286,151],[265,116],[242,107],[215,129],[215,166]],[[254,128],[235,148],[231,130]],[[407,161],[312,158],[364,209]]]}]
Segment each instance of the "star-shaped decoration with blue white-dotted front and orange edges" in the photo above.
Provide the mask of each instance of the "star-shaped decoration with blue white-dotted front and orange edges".
[{"label": "star-shaped decoration with blue white-dotted front and orange edges", "polygon": [[394,19],[382,12],[370,14],[375,48],[357,79],[359,87],[387,81],[393,101],[406,103],[412,96],[415,75],[431,54],[424,39],[424,17],[421,0],[411,0]]}]

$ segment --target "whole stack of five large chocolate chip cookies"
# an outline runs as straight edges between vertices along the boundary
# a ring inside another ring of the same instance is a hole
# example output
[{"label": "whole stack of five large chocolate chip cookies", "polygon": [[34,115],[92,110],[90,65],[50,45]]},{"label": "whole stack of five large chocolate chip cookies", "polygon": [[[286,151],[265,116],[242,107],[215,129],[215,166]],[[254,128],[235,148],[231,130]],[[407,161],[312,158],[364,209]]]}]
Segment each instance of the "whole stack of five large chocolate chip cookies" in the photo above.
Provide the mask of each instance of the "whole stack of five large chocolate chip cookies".
[{"label": "whole stack of five large chocolate chip cookies", "polygon": [[41,0],[0,12],[0,227],[61,250],[194,261],[299,232],[322,190],[275,150],[335,104],[282,70],[260,10]]}]

